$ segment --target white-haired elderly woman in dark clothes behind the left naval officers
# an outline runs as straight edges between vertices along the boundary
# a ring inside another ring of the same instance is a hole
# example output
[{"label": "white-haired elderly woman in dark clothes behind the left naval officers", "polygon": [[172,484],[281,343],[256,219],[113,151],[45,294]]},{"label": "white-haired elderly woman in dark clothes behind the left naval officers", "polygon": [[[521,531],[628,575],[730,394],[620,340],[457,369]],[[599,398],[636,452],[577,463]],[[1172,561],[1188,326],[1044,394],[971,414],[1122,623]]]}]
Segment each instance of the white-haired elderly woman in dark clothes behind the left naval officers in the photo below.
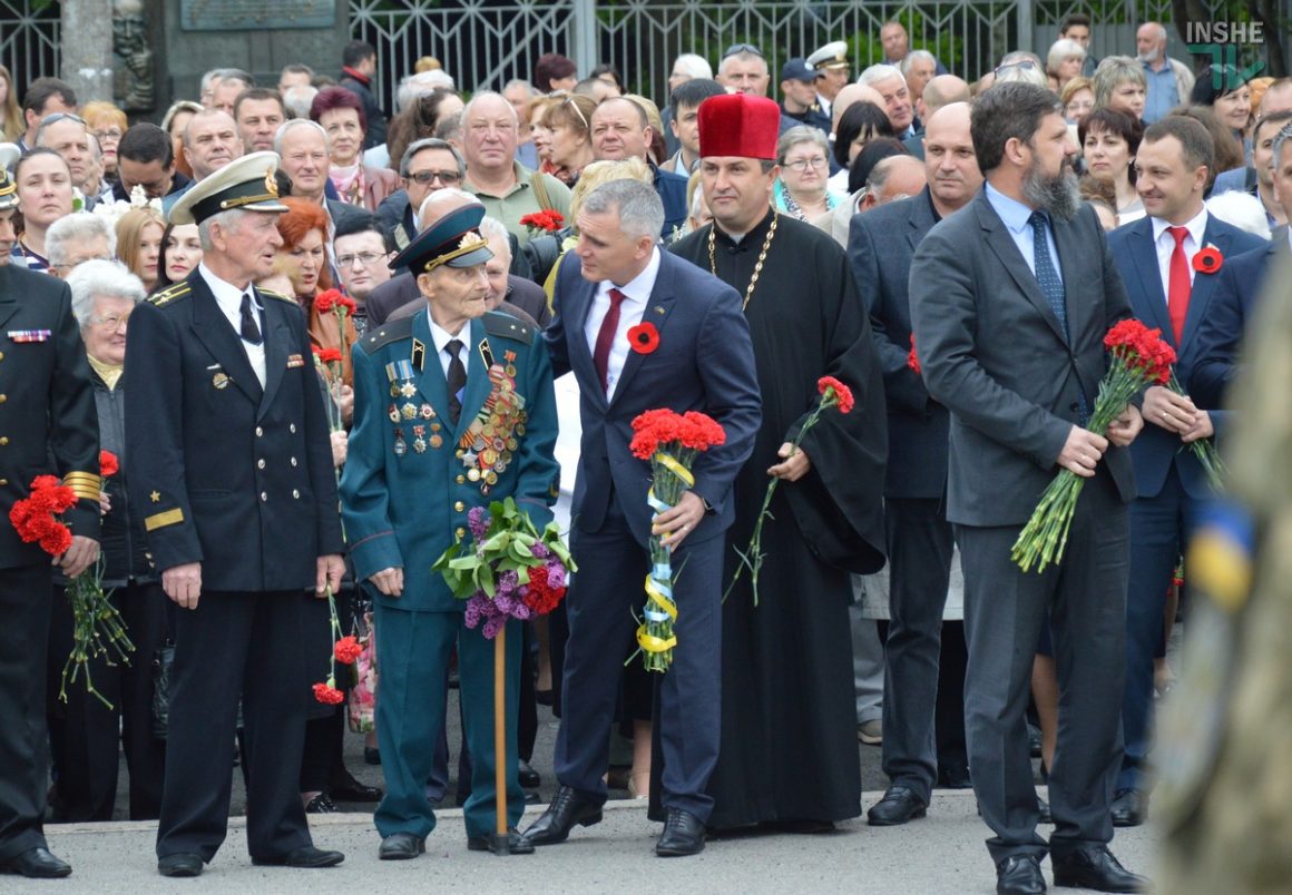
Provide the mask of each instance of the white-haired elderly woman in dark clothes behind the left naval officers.
[{"label": "white-haired elderly woman in dark clothes behind the left naval officers", "polygon": [[[94,688],[67,687],[67,704],[49,721],[57,784],[50,806],[61,823],[111,820],[116,799],[118,741],[130,775],[130,820],[155,820],[162,807],[165,741],[152,732],[152,660],[165,643],[171,601],[149,562],[143,518],[146,506],[132,506],[125,488],[125,331],[143,284],[116,261],[87,261],[67,275],[72,313],[89,356],[99,444],[118,458],[118,471],[103,477],[102,585],[121,613],[134,643],[132,660],[109,665],[89,660]],[[56,588],[49,628],[50,675],[59,674],[72,647],[72,611]]]}]

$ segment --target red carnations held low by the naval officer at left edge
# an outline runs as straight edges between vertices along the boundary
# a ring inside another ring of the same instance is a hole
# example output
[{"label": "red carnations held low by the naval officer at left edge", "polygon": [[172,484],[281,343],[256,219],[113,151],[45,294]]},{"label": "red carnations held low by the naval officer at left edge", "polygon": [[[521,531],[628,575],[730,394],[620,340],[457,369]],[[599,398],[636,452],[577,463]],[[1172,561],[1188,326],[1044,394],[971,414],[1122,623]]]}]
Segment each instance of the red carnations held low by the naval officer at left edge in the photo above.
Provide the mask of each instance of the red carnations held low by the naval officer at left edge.
[{"label": "red carnations held low by the naval officer at left edge", "polygon": [[[120,462],[111,451],[98,455],[99,475],[111,478],[120,471]],[[19,500],[9,510],[9,522],[25,542],[39,542],[52,557],[61,557],[72,545],[72,532],[58,520],[57,514],[76,505],[76,493],[63,486],[56,475],[37,475],[31,482],[31,495]],[[72,606],[72,651],[63,664],[58,697],[67,701],[67,684],[75,683],[83,673],[85,691],[107,708],[112,704],[94,690],[89,673],[89,660],[107,656],[107,664],[128,663],[134,644],[125,632],[120,612],[103,592],[103,561],[87,570],[63,586]]]}]

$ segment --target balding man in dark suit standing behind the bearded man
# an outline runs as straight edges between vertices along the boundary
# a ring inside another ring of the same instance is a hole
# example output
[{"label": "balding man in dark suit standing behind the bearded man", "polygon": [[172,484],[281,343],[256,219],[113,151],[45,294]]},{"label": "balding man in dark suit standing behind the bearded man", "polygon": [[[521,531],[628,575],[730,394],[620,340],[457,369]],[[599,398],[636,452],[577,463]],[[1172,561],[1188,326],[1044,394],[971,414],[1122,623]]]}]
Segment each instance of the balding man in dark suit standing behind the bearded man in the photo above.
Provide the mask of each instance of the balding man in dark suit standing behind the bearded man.
[{"label": "balding man in dark suit standing behind the bearded man", "polygon": [[[982,187],[969,136],[969,103],[951,103],[934,112],[924,139],[929,185],[910,199],[854,216],[848,244],[853,274],[870,305],[889,424],[884,522],[891,621],[884,648],[884,772],[890,783],[884,798],[867,812],[872,827],[922,818],[938,777],[933,718],[943,696],[938,664],[953,548],[946,508],[950,415],[929,396],[920,375],[907,363],[907,289],[911,256],[920,240]],[[963,664],[947,670],[950,681],[963,684]],[[959,694],[961,688],[950,690]],[[961,714],[959,709],[956,714]],[[951,731],[941,727],[937,739],[944,743]],[[948,756],[944,770],[948,777],[953,774],[948,783],[966,777],[964,763],[963,752]]]}]

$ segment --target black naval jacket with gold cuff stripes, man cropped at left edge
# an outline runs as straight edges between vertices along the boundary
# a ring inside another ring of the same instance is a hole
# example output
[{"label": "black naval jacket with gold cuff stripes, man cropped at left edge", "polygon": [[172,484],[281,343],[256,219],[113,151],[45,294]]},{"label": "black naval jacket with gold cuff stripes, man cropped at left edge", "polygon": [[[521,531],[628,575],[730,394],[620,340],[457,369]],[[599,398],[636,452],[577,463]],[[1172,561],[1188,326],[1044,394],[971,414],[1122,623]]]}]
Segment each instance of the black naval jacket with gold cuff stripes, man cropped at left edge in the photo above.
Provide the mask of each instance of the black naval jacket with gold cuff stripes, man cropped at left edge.
[{"label": "black naval jacket with gold cuff stripes, man cropped at left edge", "polygon": [[37,475],[57,475],[76,492],[61,518],[72,535],[97,541],[98,418],[71,291],[10,262],[0,266],[0,568],[49,563],[9,523]]}]

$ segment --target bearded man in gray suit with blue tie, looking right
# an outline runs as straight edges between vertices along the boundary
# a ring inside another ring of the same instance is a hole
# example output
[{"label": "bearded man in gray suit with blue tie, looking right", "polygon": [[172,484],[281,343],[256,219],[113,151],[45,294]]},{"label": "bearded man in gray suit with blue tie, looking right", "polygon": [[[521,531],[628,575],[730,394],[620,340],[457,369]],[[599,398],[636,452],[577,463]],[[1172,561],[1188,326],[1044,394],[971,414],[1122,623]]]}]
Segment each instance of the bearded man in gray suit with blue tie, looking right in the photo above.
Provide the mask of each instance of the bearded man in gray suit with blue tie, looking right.
[{"label": "bearded man in gray suit with blue tie, looking right", "polygon": [[[1085,429],[1106,360],[1103,334],[1130,315],[1103,230],[1080,204],[1075,147],[1053,93],[995,87],[970,130],[987,185],[935,226],[911,263],[911,318],[924,382],[951,411],[947,518],[965,576],[965,727],[982,818],[995,836],[996,891],[1054,885],[1138,891],[1147,881],[1107,849],[1121,758],[1125,666],[1125,451],[1143,426],[1128,407],[1107,438]],[[1010,548],[1059,471],[1085,479],[1067,550],[1022,572]],[[1056,830],[1036,834],[1025,710],[1049,624],[1063,692],[1050,770]]]}]

